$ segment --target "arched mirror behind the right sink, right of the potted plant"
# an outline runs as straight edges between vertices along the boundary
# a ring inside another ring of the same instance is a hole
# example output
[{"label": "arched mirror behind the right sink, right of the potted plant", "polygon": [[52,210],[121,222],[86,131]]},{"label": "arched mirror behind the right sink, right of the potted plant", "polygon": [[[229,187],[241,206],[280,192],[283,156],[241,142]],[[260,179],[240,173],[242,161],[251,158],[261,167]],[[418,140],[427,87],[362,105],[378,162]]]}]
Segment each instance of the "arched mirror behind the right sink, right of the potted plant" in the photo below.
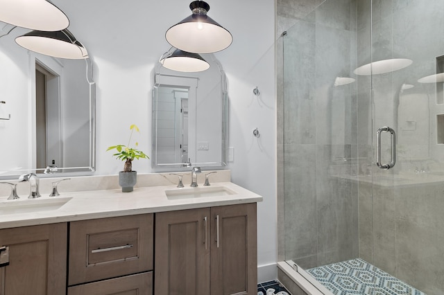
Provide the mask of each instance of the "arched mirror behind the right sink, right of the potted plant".
[{"label": "arched mirror behind the right sink, right of the potted plant", "polygon": [[214,55],[202,56],[210,69],[199,73],[155,66],[151,163],[156,170],[227,165],[227,80]]}]

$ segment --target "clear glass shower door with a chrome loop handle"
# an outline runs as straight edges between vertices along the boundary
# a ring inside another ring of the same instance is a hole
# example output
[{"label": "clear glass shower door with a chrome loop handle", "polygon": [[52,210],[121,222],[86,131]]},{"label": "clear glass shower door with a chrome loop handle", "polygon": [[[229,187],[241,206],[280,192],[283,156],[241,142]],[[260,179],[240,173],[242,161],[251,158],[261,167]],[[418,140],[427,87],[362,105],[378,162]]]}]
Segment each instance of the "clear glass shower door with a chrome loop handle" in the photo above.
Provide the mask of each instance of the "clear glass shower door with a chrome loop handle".
[{"label": "clear glass shower door with a chrome loop handle", "polygon": [[444,1],[373,1],[371,11],[373,155],[381,167],[373,166],[372,247],[363,244],[361,256],[373,256],[383,271],[377,279],[399,294],[443,294]]}]

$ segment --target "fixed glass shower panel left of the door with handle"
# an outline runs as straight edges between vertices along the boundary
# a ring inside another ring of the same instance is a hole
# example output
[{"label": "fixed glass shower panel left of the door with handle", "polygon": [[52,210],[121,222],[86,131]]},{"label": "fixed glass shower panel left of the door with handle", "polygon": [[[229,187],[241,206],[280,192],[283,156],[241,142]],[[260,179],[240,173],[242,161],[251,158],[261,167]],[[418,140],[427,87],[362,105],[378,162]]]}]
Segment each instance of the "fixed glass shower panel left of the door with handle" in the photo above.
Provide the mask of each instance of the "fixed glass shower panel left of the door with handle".
[{"label": "fixed glass shower panel left of the door with handle", "polygon": [[325,1],[283,37],[284,256],[309,273],[359,258],[360,175],[371,205],[370,77],[353,73],[370,60],[370,28],[357,5]]}]

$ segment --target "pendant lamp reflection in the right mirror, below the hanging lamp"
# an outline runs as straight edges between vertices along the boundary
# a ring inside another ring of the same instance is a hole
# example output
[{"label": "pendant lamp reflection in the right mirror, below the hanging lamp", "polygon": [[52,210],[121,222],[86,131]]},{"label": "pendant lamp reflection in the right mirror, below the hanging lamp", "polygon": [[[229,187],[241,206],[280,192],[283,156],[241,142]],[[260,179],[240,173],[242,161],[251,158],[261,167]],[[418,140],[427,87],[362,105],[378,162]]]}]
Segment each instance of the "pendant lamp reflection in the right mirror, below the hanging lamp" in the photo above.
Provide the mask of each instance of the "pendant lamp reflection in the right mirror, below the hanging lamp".
[{"label": "pendant lamp reflection in the right mirror, below the hanging lamp", "polygon": [[210,64],[197,53],[176,49],[171,55],[160,60],[162,66],[173,71],[195,73],[210,69]]}]

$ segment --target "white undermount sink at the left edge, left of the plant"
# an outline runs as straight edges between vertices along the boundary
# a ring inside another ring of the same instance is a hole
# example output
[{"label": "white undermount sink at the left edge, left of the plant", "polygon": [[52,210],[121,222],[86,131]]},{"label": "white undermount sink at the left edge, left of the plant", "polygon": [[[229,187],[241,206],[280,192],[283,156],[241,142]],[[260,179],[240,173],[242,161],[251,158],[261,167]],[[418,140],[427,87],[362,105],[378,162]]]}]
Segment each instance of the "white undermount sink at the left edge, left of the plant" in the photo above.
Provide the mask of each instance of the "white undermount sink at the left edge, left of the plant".
[{"label": "white undermount sink at the left edge, left of the plant", "polygon": [[0,202],[0,215],[53,211],[67,204],[70,199],[72,197],[6,200]]}]

